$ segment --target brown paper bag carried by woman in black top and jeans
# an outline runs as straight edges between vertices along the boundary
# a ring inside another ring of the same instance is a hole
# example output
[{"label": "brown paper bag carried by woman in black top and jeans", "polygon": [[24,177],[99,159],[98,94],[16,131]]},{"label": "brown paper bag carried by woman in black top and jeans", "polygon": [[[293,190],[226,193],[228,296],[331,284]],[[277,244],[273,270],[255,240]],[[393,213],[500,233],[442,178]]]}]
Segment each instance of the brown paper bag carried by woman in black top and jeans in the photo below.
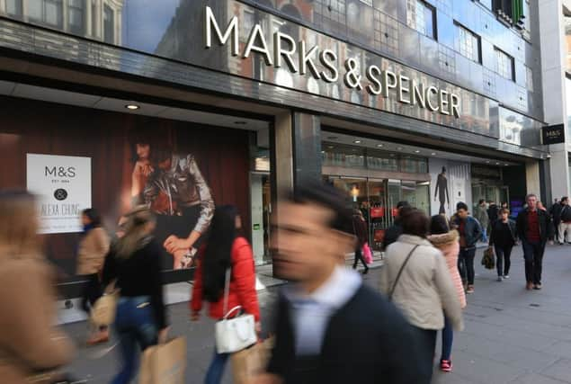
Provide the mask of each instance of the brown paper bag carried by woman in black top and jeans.
[{"label": "brown paper bag carried by woman in black top and jeans", "polygon": [[183,384],[186,371],[186,337],[148,347],[141,358],[139,384]]}]

